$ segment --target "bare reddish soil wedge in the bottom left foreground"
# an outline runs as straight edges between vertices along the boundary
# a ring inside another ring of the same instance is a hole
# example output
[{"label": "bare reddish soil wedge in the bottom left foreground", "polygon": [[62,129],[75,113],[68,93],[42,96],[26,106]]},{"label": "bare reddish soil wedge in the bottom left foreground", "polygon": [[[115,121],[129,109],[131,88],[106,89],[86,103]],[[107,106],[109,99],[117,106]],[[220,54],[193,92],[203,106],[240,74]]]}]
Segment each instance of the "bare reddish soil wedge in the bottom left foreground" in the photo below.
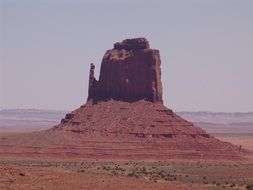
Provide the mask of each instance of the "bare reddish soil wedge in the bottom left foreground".
[{"label": "bare reddish soil wedge in the bottom left foreground", "polygon": [[[175,182],[154,182],[126,176],[112,176],[98,173],[83,173],[59,168],[25,168],[0,164],[0,189],[8,190],[189,190],[192,187]],[[194,189],[201,189],[193,186]]]}]

